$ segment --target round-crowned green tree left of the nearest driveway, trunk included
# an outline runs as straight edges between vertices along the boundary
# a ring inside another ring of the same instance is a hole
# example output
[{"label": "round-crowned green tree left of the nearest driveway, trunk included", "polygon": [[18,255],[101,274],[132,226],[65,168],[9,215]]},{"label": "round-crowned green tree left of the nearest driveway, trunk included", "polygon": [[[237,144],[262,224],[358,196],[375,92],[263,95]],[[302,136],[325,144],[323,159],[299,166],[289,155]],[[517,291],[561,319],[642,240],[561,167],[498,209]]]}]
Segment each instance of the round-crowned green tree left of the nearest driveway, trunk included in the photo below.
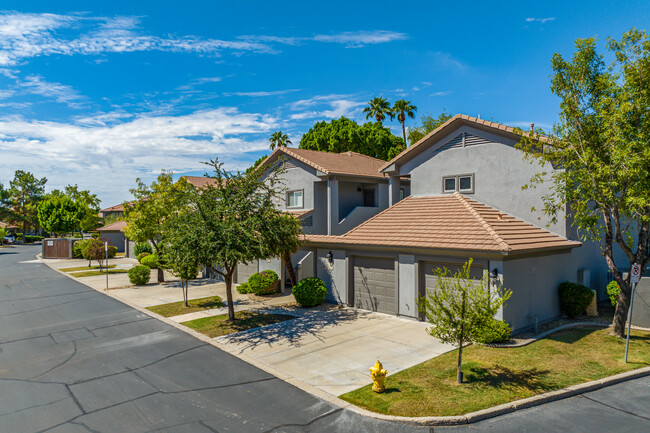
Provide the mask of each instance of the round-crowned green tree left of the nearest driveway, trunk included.
[{"label": "round-crowned green tree left of the nearest driveway, trunk included", "polygon": [[208,165],[216,182],[185,191],[186,206],[167,218],[165,233],[173,233],[170,242],[185,243],[201,265],[223,276],[228,318],[235,320],[232,279],[237,264],[274,256],[279,250],[275,236],[291,235],[284,226],[294,225],[295,219],[288,220],[275,207],[282,194],[277,171],[264,177],[261,169],[232,174],[217,160]]}]

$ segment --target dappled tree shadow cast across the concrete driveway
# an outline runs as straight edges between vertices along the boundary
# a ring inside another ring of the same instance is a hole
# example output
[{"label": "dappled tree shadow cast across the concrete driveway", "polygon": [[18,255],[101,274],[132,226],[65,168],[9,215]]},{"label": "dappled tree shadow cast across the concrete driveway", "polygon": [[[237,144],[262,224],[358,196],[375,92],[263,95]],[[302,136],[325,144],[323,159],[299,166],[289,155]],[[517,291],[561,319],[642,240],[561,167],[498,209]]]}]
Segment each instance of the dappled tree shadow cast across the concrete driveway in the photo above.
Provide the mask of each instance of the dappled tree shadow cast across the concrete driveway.
[{"label": "dappled tree shadow cast across the concrete driveway", "polygon": [[[265,309],[256,310],[267,312]],[[269,308],[268,312],[292,314],[292,311],[279,311]],[[257,328],[248,332],[224,336],[226,343],[243,344],[240,353],[246,349],[262,345],[288,344],[291,347],[300,347],[304,337],[315,337],[324,341],[323,333],[327,328],[332,328],[345,323],[353,322],[369,313],[357,310],[313,310],[296,317],[293,320],[276,323],[274,325]],[[311,342],[311,341],[310,341]]]}]

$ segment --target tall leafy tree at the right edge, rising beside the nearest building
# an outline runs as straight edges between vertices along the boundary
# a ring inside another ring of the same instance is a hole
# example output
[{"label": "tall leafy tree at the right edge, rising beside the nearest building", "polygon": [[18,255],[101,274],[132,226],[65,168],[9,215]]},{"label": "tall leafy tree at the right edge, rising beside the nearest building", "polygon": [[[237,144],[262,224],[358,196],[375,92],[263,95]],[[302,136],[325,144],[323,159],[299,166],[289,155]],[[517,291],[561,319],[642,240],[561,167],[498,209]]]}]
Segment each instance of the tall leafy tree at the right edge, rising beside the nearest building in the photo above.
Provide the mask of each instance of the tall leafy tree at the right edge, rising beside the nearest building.
[{"label": "tall leafy tree at the right edge, rising beside the nearest building", "polygon": [[[551,90],[560,98],[560,121],[548,138],[523,134],[521,148],[534,161],[561,168],[550,177],[544,210],[568,218],[584,239],[600,243],[620,295],[612,334],[622,337],[630,306],[630,277],[622,266],[648,265],[650,238],[650,41],[632,29],[609,39],[607,66],[596,40],[578,39],[571,59],[555,54]],[[615,248],[627,260],[617,261]]]}]

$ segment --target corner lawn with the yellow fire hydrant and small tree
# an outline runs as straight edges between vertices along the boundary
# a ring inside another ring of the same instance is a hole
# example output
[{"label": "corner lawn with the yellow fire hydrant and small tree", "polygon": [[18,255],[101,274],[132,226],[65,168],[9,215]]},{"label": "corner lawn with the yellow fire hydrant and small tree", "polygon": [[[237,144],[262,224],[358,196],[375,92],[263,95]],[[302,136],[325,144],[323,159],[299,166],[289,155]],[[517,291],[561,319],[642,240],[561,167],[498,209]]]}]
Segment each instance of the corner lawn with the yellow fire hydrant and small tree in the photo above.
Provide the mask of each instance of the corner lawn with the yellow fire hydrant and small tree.
[{"label": "corner lawn with the yellow fire hydrant and small tree", "polygon": [[625,364],[625,340],[608,332],[572,328],[513,349],[472,345],[463,350],[463,384],[453,351],[388,376],[383,394],[368,385],[341,398],[390,415],[462,415],[650,365],[650,333],[632,332]]}]

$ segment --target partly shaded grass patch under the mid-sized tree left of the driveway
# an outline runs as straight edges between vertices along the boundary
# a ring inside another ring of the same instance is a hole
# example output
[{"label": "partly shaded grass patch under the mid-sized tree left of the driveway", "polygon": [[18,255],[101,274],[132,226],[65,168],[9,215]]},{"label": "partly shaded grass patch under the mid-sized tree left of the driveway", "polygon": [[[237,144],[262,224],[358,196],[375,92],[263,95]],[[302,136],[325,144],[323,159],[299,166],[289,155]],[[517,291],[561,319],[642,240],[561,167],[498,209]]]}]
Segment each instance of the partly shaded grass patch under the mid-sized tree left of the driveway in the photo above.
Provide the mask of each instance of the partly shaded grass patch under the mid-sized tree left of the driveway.
[{"label": "partly shaded grass patch under the mid-sized tree left of the driveway", "polygon": [[228,315],[205,317],[203,319],[190,320],[182,324],[195,331],[205,334],[208,337],[219,337],[220,335],[232,334],[246,331],[260,326],[272,325],[285,320],[293,319],[293,316],[286,314],[263,314],[251,311],[238,311],[235,313],[234,322],[228,321]]}]

